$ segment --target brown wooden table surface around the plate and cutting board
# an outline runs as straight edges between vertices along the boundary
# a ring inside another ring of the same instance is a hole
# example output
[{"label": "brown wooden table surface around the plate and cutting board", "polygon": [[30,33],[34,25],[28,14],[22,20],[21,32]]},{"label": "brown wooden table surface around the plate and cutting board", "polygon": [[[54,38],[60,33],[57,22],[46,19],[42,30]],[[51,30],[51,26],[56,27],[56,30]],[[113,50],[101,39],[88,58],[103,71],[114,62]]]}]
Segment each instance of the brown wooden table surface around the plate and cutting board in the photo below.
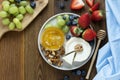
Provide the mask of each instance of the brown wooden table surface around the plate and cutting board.
[{"label": "brown wooden table surface around the plate and cutting board", "polygon": [[[32,21],[22,32],[8,32],[0,40],[0,80],[62,80],[65,75],[70,80],[80,80],[81,76],[72,75],[71,71],[61,71],[49,66],[38,51],[38,32],[43,23],[51,16],[61,12],[73,12],[82,14],[88,11],[88,6],[79,11],[69,9],[70,0],[65,1],[65,9],[59,9],[60,0],[49,0],[47,7]],[[105,9],[104,0],[100,9]],[[96,31],[106,30],[106,20],[92,23]],[[107,42],[102,41],[100,47]],[[88,70],[90,61],[79,69]],[[90,80],[96,75],[95,64],[91,72]]]}]

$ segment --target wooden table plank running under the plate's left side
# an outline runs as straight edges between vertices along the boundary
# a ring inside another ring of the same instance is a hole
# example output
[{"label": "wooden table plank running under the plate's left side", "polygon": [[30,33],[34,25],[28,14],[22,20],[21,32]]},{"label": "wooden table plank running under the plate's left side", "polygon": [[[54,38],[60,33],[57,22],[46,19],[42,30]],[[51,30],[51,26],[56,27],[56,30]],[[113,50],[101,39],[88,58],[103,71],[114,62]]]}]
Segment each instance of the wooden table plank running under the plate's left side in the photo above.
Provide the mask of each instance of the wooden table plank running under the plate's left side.
[{"label": "wooden table plank running under the plate's left side", "polygon": [[46,9],[25,30],[25,80],[49,80],[46,76],[54,71],[43,61],[37,46],[38,32],[43,23],[52,15],[54,15],[54,0],[50,0]]}]

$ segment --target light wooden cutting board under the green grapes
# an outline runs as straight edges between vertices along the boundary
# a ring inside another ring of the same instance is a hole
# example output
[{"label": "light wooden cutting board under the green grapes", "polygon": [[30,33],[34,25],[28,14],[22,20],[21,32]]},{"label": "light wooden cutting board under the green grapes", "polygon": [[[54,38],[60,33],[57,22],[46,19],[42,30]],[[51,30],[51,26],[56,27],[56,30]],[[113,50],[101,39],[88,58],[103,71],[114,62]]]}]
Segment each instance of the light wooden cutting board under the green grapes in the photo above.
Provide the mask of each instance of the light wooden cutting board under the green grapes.
[{"label": "light wooden cutting board under the green grapes", "polygon": [[[45,8],[45,6],[48,4],[48,0],[36,0],[36,8],[34,9],[34,14],[26,14],[23,21],[22,21],[22,29],[18,30],[9,30],[8,26],[4,26],[2,24],[2,19],[0,18],[0,39],[2,36],[8,32],[8,31],[23,31],[35,17]],[[1,5],[1,3],[0,3]],[[0,7],[0,10],[2,8]]]}]

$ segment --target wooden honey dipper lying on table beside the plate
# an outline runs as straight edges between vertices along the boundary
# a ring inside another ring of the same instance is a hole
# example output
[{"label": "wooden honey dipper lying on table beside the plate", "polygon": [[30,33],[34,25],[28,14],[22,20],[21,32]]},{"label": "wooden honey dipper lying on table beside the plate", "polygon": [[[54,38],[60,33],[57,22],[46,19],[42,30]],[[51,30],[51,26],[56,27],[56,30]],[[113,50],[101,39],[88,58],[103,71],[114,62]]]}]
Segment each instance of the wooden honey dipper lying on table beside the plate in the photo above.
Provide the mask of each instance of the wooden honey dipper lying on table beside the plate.
[{"label": "wooden honey dipper lying on table beside the plate", "polygon": [[93,58],[92,58],[92,61],[91,61],[91,64],[90,64],[90,67],[89,67],[89,70],[88,70],[86,79],[89,79],[89,76],[90,76],[90,73],[91,73],[91,70],[92,70],[94,61],[95,61],[95,59],[96,59],[96,55],[97,55],[97,51],[98,51],[99,45],[100,45],[101,41],[105,38],[105,36],[106,36],[106,31],[104,31],[104,30],[99,30],[99,31],[97,32],[98,42],[97,42],[96,50],[95,50],[95,52],[94,52],[94,55],[93,55]]}]

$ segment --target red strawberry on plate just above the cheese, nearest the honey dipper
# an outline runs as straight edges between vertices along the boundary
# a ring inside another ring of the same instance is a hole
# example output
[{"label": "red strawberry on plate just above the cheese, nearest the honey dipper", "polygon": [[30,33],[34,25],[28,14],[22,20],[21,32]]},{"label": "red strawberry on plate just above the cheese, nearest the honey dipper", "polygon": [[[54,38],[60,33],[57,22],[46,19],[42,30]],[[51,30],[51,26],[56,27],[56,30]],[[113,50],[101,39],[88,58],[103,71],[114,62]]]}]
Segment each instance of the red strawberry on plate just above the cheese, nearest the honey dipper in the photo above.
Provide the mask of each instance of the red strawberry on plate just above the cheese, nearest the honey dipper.
[{"label": "red strawberry on plate just above the cheese, nearest the honey dipper", "polygon": [[86,41],[92,41],[96,37],[96,32],[90,28],[86,29],[83,34],[82,38]]}]

